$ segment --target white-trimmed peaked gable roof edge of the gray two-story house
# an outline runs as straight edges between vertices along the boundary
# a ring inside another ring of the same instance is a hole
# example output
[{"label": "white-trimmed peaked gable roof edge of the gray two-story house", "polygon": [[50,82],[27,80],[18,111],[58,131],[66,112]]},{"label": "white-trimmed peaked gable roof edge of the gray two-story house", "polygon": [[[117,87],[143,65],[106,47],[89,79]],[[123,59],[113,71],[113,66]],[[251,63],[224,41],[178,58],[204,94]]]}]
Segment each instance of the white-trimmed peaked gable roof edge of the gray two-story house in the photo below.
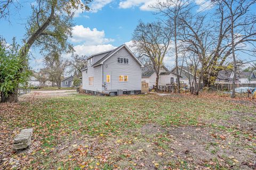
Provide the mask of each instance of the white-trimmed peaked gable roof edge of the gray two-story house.
[{"label": "white-trimmed peaked gable roof edge of the gray two-story house", "polygon": [[[131,56],[140,64],[141,67],[143,67],[143,64],[138,60],[138,58],[131,52],[131,50],[125,45],[123,44],[122,46],[119,46],[111,51],[106,52],[106,55],[103,56],[98,62],[94,63],[92,66],[98,66],[103,64],[106,60],[108,60],[109,57],[111,57],[112,55],[114,55],[116,52],[118,52],[119,49],[121,48],[125,48],[130,54]],[[101,53],[104,54],[104,53]],[[95,55],[94,55],[95,56]]]}]

